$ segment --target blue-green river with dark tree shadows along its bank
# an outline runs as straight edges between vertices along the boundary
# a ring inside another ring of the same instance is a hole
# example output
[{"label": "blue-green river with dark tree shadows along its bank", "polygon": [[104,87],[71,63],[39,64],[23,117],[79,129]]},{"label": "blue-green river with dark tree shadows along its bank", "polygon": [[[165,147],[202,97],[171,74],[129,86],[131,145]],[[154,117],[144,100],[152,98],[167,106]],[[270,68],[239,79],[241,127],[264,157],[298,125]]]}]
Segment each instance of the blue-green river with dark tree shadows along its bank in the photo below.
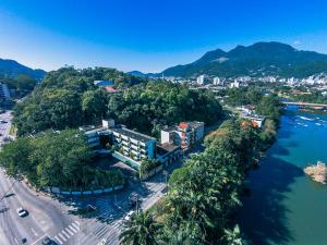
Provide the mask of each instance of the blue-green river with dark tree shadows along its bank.
[{"label": "blue-green river with dark tree shadows along its bank", "polygon": [[276,143],[246,179],[251,195],[239,223],[250,244],[327,244],[327,185],[303,173],[317,160],[327,163],[327,115],[289,107]]}]

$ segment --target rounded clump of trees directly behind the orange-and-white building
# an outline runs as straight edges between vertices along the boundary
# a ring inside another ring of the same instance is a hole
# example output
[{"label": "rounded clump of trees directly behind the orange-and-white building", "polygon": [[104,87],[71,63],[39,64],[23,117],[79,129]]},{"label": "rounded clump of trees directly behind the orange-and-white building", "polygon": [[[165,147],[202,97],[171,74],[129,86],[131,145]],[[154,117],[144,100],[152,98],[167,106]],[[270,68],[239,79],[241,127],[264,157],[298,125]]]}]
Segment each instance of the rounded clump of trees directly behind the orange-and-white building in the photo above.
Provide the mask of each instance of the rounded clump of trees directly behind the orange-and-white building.
[{"label": "rounded clump of trees directly behind the orange-and-white building", "polygon": [[168,82],[134,86],[122,97],[110,97],[108,108],[109,117],[153,135],[158,134],[160,125],[189,120],[211,124],[221,117],[221,107],[214,94]]}]

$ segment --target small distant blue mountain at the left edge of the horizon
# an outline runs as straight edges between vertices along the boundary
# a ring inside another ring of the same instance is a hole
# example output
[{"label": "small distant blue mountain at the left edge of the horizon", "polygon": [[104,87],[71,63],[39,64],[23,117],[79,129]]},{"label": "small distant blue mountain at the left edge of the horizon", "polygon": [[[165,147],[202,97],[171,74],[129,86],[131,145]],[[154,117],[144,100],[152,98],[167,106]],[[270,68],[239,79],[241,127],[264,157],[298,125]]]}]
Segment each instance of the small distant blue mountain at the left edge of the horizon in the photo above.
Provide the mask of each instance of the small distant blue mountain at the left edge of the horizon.
[{"label": "small distant blue mountain at the left edge of the horizon", "polygon": [[33,70],[14,60],[0,59],[0,77],[15,77],[20,74],[26,74],[40,81],[46,75],[46,72],[40,69]]}]

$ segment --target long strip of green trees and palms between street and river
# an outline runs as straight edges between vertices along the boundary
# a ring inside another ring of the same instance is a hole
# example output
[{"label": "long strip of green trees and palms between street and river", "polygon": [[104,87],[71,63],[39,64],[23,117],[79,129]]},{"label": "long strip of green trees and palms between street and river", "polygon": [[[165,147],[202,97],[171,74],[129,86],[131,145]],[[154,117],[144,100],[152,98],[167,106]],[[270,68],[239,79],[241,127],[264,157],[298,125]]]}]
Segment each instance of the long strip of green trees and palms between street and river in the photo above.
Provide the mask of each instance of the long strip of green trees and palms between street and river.
[{"label": "long strip of green trees and palms between street and river", "polygon": [[245,99],[252,93],[258,98],[257,111],[268,118],[263,130],[246,120],[222,123],[206,137],[204,152],[171,174],[167,197],[126,222],[121,244],[242,244],[233,213],[241,206],[246,173],[274,142],[282,113],[276,96],[252,90]]}]

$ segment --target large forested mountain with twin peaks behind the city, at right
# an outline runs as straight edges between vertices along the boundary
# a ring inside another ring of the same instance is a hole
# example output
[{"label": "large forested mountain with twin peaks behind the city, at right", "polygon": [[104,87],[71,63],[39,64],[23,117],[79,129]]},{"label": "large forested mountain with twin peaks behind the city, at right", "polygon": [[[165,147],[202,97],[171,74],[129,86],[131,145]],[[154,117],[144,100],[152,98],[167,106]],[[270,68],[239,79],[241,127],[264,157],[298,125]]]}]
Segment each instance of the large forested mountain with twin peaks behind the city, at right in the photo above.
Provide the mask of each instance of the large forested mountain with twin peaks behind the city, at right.
[{"label": "large forested mountain with twin peaks behind the city, at right", "polygon": [[193,63],[164,71],[165,76],[192,77],[201,74],[215,76],[305,77],[327,72],[327,54],[302,51],[276,41],[238,46],[226,52],[216,49]]}]

